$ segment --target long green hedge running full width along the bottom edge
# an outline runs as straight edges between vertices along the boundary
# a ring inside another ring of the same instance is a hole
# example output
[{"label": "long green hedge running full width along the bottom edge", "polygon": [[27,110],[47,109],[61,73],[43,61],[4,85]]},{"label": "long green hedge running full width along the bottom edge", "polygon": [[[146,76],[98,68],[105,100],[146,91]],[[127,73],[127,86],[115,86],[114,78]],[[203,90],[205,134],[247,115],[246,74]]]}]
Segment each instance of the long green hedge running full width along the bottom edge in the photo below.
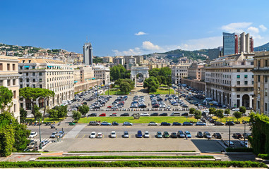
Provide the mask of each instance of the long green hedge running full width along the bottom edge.
[{"label": "long green hedge running full width along the bottom edge", "polygon": [[0,162],[0,168],[83,168],[83,167],[181,167],[181,168],[268,168],[264,163],[252,161],[18,161]]}]

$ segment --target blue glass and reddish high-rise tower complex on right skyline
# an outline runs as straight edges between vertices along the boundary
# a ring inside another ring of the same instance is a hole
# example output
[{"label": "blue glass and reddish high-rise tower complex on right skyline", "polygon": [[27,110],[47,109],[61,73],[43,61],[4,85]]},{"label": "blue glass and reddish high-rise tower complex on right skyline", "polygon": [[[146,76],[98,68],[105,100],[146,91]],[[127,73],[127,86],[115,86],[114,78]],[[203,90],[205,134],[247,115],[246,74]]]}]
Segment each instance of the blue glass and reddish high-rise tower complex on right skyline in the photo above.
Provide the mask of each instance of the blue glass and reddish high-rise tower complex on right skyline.
[{"label": "blue glass and reddish high-rise tower complex on right skyline", "polygon": [[223,32],[223,55],[239,54],[241,52],[250,53],[254,51],[253,37],[249,33],[242,32],[240,35],[236,33]]}]

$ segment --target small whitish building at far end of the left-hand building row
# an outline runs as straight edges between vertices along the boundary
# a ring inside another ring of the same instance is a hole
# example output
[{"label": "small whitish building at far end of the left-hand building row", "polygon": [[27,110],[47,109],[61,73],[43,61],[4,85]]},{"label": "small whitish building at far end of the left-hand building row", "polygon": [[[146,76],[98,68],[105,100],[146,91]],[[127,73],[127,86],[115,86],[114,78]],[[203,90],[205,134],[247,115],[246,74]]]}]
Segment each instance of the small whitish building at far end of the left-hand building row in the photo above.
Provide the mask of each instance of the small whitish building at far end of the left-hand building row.
[{"label": "small whitish building at far end of the left-hand building row", "polygon": [[92,67],[94,70],[94,78],[99,84],[109,84],[110,80],[110,69],[104,67],[104,65],[95,65]]}]

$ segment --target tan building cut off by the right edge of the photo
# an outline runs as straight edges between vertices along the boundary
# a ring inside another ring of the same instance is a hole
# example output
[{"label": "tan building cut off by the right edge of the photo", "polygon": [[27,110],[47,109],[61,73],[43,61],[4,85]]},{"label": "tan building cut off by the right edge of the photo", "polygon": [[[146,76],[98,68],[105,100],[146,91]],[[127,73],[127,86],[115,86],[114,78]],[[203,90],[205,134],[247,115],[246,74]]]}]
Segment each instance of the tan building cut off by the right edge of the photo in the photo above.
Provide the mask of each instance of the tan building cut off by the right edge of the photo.
[{"label": "tan building cut off by the right edge of the photo", "polygon": [[269,51],[256,52],[254,57],[254,111],[269,115],[268,77]]}]

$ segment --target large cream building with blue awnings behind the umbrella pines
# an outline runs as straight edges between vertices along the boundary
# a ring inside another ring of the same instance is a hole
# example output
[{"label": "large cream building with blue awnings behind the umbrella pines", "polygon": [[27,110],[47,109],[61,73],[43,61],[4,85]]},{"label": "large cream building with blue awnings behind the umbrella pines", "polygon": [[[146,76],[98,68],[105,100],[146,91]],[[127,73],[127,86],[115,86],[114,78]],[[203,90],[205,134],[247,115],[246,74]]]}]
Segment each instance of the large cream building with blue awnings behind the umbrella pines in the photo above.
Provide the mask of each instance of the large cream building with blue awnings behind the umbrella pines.
[{"label": "large cream building with blue awnings behind the umbrella pines", "polygon": [[[48,99],[49,107],[60,105],[63,100],[73,99],[73,65],[43,58],[19,58],[18,60],[18,72],[22,75],[19,79],[20,88],[39,87],[54,91],[55,96]],[[35,104],[43,107],[44,100],[37,99]],[[20,106],[31,108],[30,101],[25,99],[20,99]]]}]

